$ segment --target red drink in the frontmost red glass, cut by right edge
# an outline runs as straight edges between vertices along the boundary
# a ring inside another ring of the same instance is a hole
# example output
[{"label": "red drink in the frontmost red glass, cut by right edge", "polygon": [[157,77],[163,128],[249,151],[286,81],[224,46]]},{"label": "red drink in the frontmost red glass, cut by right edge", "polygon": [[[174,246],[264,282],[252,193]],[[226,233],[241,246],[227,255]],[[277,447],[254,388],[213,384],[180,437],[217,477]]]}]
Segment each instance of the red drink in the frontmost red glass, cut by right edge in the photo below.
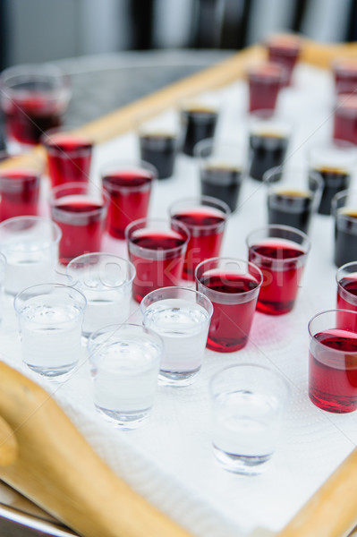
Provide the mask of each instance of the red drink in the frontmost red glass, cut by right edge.
[{"label": "red drink in the frontmost red glass, cut by right edge", "polygon": [[357,408],[357,334],[331,328],[310,341],[309,396],[334,413]]}]

